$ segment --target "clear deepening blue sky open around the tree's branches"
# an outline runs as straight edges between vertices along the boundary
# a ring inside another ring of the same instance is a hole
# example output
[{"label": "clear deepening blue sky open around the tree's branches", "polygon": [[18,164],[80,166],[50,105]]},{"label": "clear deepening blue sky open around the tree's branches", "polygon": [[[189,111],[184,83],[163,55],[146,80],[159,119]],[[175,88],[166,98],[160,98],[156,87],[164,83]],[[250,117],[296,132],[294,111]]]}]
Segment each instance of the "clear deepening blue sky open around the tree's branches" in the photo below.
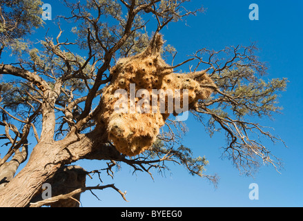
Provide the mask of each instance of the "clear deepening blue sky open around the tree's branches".
[{"label": "clear deepening blue sky open around the tree's branches", "polygon": [[[52,5],[52,17],[63,12],[57,0],[44,2]],[[248,19],[251,3],[259,6],[259,21]],[[106,189],[94,191],[101,201],[89,191],[82,194],[82,206],[303,206],[302,1],[195,0],[187,5],[195,9],[201,4],[207,8],[205,13],[188,17],[187,26],[182,22],[170,23],[168,29],[162,31],[164,39],[175,46],[176,59],[180,60],[184,59],[182,55],[190,55],[199,48],[220,50],[225,46],[248,46],[252,41],[257,42],[262,49],[258,53],[260,59],[269,65],[266,77],[288,77],[290,81],[280,98],[280,106],[284,107],[282,115],[275,115],[274,121],[260,120],[264,126],[275,128],[274,133],[288,146],[266,143],[274,155],[282,158],[284,170],[280,174],[273,167],[262,166],[254,177],[240,176],[230,161],[220,159],[222,151],[219,148],[225,144],[224,135],[209,137],[204,127],[191,116],[186,121],[189,132],[183,144],[192,148],[195,155],[206,156],[210,162],[206,173],[217,173],[220,178],[217,189],[207,180],[189,175],[182,166],[170,164],[171,171],[166,171],[165,177],[155,171],[153,181],[146,173],[132,175],[132,169],[122,164],[121,170],[115,172],[114,180],[106,172],[101,174],[101,179],[104,184],[115,183],[121,191],[127,191],[129,202],[114,190]],[[48,27],[56,35],[52,21],[46,21],[45,30],[36,37],[44,36]],[[87,171],[105,166],[99,161],[76,164]],[[87,179],[87,186],[99,183],[97,177]],[[259,200],[248,198],[251,183],[259,186]]]}]

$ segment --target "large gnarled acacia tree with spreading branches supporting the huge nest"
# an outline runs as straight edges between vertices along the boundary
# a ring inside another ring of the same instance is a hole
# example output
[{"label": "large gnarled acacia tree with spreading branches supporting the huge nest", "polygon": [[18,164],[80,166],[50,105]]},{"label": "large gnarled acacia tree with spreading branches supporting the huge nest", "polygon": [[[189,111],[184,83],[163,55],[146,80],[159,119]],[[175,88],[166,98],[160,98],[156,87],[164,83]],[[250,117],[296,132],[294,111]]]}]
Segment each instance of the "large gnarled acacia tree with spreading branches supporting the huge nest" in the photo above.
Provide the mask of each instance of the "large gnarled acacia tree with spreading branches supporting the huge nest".
[{"label": "large gnarled acacia tree with spreading branches supporting the huge nest", "polygon": [[[106,161],[102,170],[110,176],[115,166],[124,164],[153,176],[151,169],[164,171],[168,162],[176,162],[191,175],[217,182],[215,175],[204,174],[208,161],[193,157],[190,148],[181,144],[186,131],[182,122],[166,119],[153,146],[135,157],[119,153],[106,125],[97,122],[118,58],[132,59],[147,47],[174,60],[175,49],[168,44],[162,47],[163,42],[155,39],[170,22],[182,22],[203,11],[186,10],[186,2],[66,0],[63,5],[69,15],[58,18],[55,37],[46,33],[45,39],[34,44],[29,34],[43,25],[41,1],[0,1],[1,52],[18,57],[17,62],[0,64],[0,139],[1,148],[6,148],[0,159],[0,206],[79,206],[81,193],[106,188],[115,189],[126,200],[114,184],[86,186],[86,175],[100,171],[70,165],[83,159]],[[63,37],[62,23],[74,24],[73,39]],[[148,33],[146,28],[153,26],[154,32]],[[266,65],[256,51],[253,44],[219,51],[197,48],[190,59],[172,62],[165,70],[174,73],[190,62],[184,75],[207,73],[211,77],[213,94],[190,106],[190,113],[210,135],[225,133],[223,155],[248,175],[264,163],[275,169],[280,166],[280,160],[262,144],[262,137],[282,140],[252,119],[280,111],[277,98],[287,81],[264,81]],[[19,166],[22,169],[17,173]],[[52,186],[52,198],[47,200],[41,198],[44,183]]]}]

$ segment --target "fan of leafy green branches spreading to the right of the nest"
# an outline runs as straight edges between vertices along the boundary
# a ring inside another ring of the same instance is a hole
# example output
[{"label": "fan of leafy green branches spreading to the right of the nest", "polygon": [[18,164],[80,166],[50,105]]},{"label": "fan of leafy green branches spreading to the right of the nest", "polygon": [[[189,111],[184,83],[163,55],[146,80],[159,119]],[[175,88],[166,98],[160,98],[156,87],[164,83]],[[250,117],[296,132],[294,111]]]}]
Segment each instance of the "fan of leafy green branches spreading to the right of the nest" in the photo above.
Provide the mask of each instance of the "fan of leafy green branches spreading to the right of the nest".
[{"label": "fan of leafy green branches spreading to the right of the nest", "polygon": [[216,131],[225,133],[222,157],[232,160],[246,175],[262,164],[272,164],[275,169],[281,166],[280,159],[262,144],[262,139],[283,141],[265,131],[259,122],[262,117],[272,119],[280,113],[278,98],[288,82],[286,78],[266,80],[266,65],[254,54],[256,51],[254,45],[231,46],[217,52],[204,48],[195,55],[199,64],[210,66],[217,88],[213,97],[199,102],[193,114],[210,135]]}]

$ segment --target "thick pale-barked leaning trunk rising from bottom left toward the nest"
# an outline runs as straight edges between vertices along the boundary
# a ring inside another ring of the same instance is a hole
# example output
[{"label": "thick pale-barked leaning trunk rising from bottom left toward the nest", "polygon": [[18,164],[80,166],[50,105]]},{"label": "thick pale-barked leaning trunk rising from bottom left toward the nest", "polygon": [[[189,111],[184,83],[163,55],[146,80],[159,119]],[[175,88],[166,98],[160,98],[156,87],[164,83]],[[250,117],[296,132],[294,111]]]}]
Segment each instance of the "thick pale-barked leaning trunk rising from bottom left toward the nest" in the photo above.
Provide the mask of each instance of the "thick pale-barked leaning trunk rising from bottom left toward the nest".
[{"label": "thick pale-barked leaning trunk rising from bottom left toward the nest", "polygon": [[68,135],[57,142],[39,142],[28,164],[0,192],[0,206],[28,206],[41,185],[63,165],[79,159],[119,159],[120,153],[106,145],[105,131],[95,128],[83,135]]}]

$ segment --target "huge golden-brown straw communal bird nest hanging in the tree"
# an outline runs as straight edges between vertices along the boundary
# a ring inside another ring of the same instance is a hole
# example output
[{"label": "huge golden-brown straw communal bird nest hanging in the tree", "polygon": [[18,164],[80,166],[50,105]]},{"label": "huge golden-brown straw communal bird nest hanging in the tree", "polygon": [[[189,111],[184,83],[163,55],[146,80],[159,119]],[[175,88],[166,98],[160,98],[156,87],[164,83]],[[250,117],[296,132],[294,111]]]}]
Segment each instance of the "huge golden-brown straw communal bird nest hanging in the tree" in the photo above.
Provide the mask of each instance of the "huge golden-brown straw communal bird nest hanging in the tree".
[{"label": "huge golden-brown straw communal bird nest hanging in the tree", "polygon": [[205,71],[173,73],[160,55],[163,40],[155,35],[144,52],[121,58],[110,70],[99,122],[120,153],[133,156],[152,146],[171,114],[178,115],[208,98],[215,88]]}]

